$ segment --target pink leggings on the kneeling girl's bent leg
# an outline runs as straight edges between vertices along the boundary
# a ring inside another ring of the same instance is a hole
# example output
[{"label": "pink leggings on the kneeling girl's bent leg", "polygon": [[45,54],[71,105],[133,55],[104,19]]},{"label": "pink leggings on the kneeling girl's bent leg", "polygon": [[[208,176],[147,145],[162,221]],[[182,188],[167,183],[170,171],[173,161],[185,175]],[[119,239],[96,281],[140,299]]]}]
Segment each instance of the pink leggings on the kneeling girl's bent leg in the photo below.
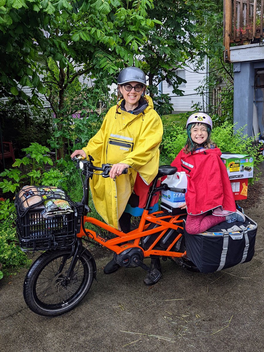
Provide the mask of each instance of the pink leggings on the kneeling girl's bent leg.
[{"label": "pink leggings on the kneeling girl's bent leg", "polygon": [[207,215],[208,212],[200,214],[200,215],[187,215],[186,219],[186,231],[190,234],[196,235],[197,233],[201,233],[203,231],[208,230],[220,222],[226,220],[225,216],[215,216],[215,215]]}]

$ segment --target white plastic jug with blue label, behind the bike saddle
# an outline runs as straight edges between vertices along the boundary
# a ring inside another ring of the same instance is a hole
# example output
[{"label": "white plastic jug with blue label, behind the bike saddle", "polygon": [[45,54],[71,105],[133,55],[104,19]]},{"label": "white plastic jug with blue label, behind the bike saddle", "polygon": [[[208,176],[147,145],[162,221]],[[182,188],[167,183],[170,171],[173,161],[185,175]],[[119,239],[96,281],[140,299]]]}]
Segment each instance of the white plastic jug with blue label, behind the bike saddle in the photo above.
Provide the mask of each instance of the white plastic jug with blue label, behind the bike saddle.
[{"label": "white plastic jug with blue label, behind the bike saddle", "polygon": [[[168,175],[162,183],[166,183],[168,187],[186,188],[187,176],[184,171],[176,172],[174,175]],[[161,191],[161,208],[170,213],[173,213],[172,208],[179,208],[185,203],[185,193],[172,192],[170,190]],[[166,207],[168,205],[169,207]]]}]

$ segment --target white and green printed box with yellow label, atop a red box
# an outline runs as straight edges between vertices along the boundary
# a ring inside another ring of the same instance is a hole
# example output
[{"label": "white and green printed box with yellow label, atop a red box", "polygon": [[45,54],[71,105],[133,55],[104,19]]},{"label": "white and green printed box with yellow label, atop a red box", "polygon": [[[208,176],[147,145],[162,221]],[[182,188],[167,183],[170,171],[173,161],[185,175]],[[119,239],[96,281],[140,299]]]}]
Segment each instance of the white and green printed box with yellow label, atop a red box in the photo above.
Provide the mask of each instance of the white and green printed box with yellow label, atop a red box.
[{"label": "white and green printed box with yellow label, atop a red box", "polygon": [[225,154],[221,155],[230,180],[238,178],[253,177],[253,157],[246,154]]}]

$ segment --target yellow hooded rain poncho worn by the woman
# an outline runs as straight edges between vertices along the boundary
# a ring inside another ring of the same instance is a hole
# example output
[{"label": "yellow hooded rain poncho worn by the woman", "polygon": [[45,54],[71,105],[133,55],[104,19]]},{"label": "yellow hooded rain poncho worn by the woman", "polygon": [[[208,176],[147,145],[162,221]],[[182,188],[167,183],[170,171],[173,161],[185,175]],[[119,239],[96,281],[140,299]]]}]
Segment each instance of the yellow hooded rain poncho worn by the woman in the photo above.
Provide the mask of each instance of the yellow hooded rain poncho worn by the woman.
[{"label": "yellow hooded rain poncho worn by the woman", "polygon": [[87,159],[92,155],[95,166],[116,163],[131,166],[128,174],[114,180],[94,175],[90,181],[96,211],[115,228],[119,228],[118,220],[133,191],[137,172],[146,184],[158,172],[163,127],[152,99],[146,98],[149,105],[138,115],[122,111],[120,107],[117,114],[117,106],[110,108],[100,130],[83,148]]}]

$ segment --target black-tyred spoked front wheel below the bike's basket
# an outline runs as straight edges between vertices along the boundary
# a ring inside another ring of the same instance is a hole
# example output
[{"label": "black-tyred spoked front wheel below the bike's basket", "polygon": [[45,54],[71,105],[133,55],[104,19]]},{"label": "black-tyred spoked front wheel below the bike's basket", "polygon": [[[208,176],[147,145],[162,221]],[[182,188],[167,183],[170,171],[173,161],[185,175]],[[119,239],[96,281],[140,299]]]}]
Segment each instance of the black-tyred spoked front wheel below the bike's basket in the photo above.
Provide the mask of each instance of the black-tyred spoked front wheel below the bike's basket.
[{"label": "black-tyred spoked front wheel below the bike's basket", "polygon": [[24,282],[27,306],[39,315],[60,315],[77,306],[88,293],[95,276],[92,255],[82,247],[73,274],[66,276],[73,257],[71,250],[47,251],[33,263]]}]

